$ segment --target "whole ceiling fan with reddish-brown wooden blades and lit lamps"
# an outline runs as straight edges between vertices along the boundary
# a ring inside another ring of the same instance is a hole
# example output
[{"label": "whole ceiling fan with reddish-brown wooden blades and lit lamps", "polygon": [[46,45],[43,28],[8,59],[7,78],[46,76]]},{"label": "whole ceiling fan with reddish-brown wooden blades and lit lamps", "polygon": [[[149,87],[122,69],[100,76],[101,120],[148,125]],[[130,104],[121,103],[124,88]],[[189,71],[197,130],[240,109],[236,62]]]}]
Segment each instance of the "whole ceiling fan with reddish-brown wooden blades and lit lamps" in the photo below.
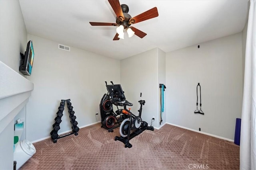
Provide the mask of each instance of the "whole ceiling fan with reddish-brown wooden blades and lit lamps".
[{"label": "whole ceiling fan with reddish-brown wooden blades and lit lamps", "polygon": [[135,27],[130,27],[131,24],[138,23],[141,21],[149,20],[158,16],[157,8],[154,7],[138,16],[131,17],[129,14],[129,7],[126,4],[120,5],[119,0],[108,0],[114,12],[116,13],[116,23],[105,23],[105,22],[90,22],[92,26],[118,26],[116,28],[116,35],[113,40],[124,39],[124,32],[128,33],[129,37],[137,35],[140,38],[145,37],[147,34],[140,31]]}]

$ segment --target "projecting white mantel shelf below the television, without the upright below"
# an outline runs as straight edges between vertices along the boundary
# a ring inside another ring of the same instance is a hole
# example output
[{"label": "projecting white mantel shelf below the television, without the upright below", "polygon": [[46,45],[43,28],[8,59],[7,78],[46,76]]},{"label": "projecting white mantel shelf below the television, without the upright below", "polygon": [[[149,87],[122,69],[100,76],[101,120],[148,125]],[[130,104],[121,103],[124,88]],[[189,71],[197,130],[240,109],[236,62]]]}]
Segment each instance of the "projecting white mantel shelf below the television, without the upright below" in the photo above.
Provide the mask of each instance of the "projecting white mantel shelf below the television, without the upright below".
[{"label": "projecting white mantel shelf below the television, without the upright below", "polygon": [[0,133],[27,104],[34,84],[0,61]]}]

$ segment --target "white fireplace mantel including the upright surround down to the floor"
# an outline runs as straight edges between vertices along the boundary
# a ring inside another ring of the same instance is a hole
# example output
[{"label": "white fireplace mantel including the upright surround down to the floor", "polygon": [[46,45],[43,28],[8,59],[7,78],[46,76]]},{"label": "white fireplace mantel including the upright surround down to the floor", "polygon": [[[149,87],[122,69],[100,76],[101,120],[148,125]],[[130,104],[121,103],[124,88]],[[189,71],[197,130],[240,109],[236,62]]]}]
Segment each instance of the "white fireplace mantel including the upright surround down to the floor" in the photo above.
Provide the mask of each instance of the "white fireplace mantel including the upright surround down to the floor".
[{"label": "white fireplace mantel including the upright surround down to the floor", "polygon": [[14,117],[33,89],[32,82],[0,61],[0,169],[13,168]]}]

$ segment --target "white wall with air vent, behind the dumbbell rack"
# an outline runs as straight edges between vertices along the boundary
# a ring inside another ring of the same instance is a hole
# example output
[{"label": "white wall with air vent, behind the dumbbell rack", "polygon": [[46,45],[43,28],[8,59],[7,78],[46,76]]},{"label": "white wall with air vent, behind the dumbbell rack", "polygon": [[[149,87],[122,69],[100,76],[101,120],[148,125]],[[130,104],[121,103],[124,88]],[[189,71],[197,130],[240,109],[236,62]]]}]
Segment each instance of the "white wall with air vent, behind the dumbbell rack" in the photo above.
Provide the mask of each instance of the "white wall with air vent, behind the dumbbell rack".
[{"label": "white wall with air vent, behind the dumbbell rack", "polygon": [[[28,79],[35,88],[27,105],[27,139],[50,136],[62,99],[71,100],[78,127],[95,123],[100,100],[107,92],[104,81],[120,83],[120,61],[75,47],[64,51],[58,49],[58,42],[30,34],[29,39],[33,41],[35,57]],[[58,133],[71,130],[67,110],[65,106]]]}]

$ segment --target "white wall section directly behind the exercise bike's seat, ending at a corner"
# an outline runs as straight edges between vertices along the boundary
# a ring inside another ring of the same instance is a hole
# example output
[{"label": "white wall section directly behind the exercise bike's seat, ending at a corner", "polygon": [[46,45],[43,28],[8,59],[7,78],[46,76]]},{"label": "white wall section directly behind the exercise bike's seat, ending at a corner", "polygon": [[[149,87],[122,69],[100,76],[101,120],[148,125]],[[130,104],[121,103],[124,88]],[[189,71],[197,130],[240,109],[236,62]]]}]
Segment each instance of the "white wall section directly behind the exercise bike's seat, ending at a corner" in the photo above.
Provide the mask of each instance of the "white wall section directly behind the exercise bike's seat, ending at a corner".
[{"label": "white wall section directly behind the exercise bike's seat, ending at a corner", "polygon": [[[142,107],[142,120],[149,125],[152,116],[158,117],[157,66],[157,48],[121,60],[121,86],[126,100],[133,103],[131,111],[135,115],[140,108],[138,101],[146,101]],[[152,125],[157,127],[157,121]]]}]

